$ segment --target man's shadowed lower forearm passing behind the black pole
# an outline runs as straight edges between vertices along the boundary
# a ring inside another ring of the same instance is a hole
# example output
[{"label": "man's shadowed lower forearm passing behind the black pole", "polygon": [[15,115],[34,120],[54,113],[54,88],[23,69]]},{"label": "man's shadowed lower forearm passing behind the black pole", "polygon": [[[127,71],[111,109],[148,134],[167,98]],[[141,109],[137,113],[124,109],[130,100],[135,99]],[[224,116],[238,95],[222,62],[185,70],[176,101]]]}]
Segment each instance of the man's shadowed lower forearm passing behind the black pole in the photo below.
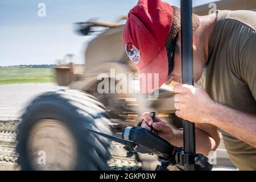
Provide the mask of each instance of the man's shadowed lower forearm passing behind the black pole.
[{"label": "man's shadowed lower forearm passing behind the black pole", "polygon": [[[183,131],[174,130],[175,138],[170,141],[171,144],[175,146],[183,146]],[[196,153],[203,154],[207,156],[210,151],[216,150],[218,144],[215,140],[210,137],[209,134],[205,133],[203,130],[195,129],[196,137]]]}]

